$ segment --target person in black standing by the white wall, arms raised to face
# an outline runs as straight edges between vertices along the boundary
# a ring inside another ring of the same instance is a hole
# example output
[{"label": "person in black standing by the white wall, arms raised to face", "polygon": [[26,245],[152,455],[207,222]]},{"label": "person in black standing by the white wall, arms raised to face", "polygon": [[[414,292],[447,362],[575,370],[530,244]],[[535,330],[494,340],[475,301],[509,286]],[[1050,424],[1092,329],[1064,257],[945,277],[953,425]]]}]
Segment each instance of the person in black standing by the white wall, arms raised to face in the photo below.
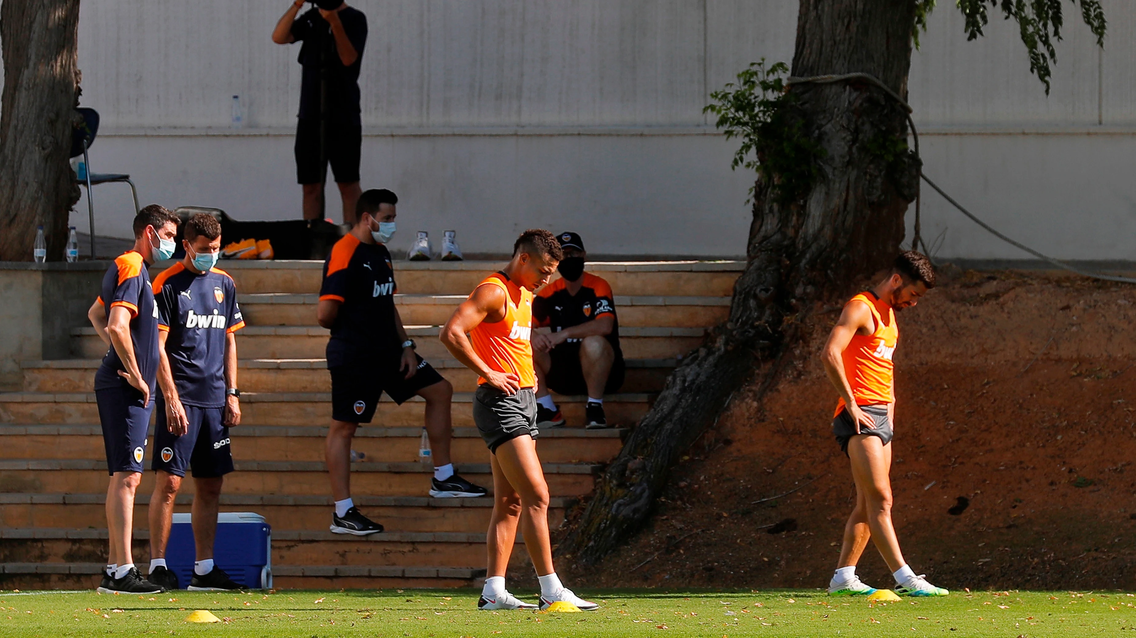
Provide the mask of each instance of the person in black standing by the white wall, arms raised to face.
[{"label": "person in black standing by the white wall, arms raised to face", "polygon": [[273,30],[273,42],[303,42],[300,114],[295,127],[295,173],[303,186],[303,218],[324,217],[324,183],[332,165],[343,199],[343,221],[354,224],[359,199],[359,66],[367,17],[343,0],[295,0]]}]

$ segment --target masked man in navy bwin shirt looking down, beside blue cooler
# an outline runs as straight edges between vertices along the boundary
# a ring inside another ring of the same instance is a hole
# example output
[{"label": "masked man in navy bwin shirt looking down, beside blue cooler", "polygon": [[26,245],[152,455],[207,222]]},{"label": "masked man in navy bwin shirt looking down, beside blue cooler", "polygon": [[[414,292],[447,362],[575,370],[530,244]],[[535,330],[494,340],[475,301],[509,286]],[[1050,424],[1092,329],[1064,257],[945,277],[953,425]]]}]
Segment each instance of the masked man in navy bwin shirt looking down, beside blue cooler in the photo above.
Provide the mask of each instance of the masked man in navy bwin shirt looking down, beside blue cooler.
[{"label": "masked man in navy bwin shirt looking down, beside blue cooler", "polygon": [[204,212],[185,223],[185,258],[153,280],[158,304],[158,422],[153,430],[149,580],[177,589],[166,566],[174,500],[193,470],[193,543],[197,561],[189,589],[240,589],[214,564],[217,510],[225,475],[233,471],[228,429],[241,423],[236,335],[244,327],[236,286],[214,268],[220,224]]}]

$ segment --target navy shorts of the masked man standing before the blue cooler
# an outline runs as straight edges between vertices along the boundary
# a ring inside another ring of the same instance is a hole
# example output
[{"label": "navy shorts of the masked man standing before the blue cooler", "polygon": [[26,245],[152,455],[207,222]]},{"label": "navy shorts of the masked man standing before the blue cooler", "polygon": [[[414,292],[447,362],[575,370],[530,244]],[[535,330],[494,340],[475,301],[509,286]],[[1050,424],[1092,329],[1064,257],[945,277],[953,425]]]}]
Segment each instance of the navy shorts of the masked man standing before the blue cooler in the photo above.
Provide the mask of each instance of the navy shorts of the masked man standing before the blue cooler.
[{"label": "navy shorts of the masked man standing before the blue cooler", "polygon": [[216,478],[232,472],[233,453],[228,428],[224,426],[225,409],[183,406],[190,428],[182,436],[174,436],[166,420],[166,402],[159,396],[150,468],[179,477],[185,476],[186,468],[192,468],[194,478]]}]

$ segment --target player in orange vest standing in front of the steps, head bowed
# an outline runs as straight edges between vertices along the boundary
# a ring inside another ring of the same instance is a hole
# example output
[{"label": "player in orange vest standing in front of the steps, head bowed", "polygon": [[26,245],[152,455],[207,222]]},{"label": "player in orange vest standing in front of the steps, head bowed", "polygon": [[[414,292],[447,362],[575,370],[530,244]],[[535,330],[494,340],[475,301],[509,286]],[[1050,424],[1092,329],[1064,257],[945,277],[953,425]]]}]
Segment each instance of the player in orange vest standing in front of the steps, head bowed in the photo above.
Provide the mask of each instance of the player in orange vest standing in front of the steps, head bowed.
[{"label": "player in orange vest standing in front of the steps, head bowed", "polygon": [[557,602],[585,611],[598,607],[557,578],[549,540],[549,486],[536,455],[536,375],[529,343],[533,291],[548,283],[562,255],[552,233],[525,230],[513,244],[509,263],[477,285],[440,335],[450,353],[479,376],[474,422],[490,448],[493,469],[493,514],[485,543],[488,560],[478,610],[537,607],[504,587],[518,524],[541,584],[540,608]]}]

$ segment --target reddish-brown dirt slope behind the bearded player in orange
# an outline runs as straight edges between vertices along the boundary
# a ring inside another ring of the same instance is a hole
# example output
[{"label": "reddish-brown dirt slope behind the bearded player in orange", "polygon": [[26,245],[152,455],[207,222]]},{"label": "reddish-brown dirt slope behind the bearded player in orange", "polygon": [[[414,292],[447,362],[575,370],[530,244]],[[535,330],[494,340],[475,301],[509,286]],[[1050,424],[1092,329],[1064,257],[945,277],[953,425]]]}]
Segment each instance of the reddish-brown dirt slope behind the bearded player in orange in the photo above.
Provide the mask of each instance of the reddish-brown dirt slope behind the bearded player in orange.
[{"label": "reddish-brown dirt slope behind the bearded player in orange", "polygon": [[[576,576],[827,585],[853,494],[816,358],[835,318],[761,408],[735,395],[646,530]],[[958,274],[899,316],[892,479],[913,569],[951,588],[1136,587],[1134,319],[1136,287],[1013,272]],[[891,586],[871,545],[859,573]]]}]

